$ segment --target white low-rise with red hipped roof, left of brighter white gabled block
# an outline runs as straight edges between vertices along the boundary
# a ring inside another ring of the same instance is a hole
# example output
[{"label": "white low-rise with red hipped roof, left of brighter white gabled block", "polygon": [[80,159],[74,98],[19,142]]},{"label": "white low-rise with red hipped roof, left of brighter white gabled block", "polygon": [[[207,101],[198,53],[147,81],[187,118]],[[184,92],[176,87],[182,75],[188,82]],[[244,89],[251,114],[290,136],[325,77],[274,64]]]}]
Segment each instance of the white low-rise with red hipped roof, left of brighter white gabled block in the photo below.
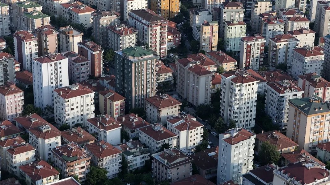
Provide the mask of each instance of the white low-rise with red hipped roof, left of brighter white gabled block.
[{"label": "white low-rise with red hipped roof, left of brighter white gabled block", "polygon": [[148,146],[152,154],[159,152],[161,145],[165,143],[168,143],[170,148],[177,146],[178,135],[158,123],[139,128],[138,130],[139,141]]}]

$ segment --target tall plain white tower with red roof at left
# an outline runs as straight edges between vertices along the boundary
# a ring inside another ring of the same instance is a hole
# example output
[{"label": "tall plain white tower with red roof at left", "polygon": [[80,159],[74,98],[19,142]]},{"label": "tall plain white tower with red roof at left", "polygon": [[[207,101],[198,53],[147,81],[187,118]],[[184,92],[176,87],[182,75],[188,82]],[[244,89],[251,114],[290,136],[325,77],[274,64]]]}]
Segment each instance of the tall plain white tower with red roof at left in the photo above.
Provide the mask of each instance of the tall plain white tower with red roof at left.
[{"label": "tall plain white tower with red roof at left", "polygon": [[68,58],[54,53],[34,58],[33,96],[36,107],[54,106],[53,90],[69,85]]}]

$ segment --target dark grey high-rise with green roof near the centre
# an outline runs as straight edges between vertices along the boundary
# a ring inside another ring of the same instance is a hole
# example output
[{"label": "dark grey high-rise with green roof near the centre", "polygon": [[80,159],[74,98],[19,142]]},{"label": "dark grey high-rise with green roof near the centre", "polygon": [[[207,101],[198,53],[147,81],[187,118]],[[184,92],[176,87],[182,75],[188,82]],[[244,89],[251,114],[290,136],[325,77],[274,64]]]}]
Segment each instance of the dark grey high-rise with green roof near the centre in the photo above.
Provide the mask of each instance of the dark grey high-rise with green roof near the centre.
[{"label": "dark grey high-rise with green roof near the centre", "polygon": [[157,92],[155,64],[158,59],[155,51],[141,46],[115,52],[116,92],[126,97],[127,108],[143,107],[144,99]]}]

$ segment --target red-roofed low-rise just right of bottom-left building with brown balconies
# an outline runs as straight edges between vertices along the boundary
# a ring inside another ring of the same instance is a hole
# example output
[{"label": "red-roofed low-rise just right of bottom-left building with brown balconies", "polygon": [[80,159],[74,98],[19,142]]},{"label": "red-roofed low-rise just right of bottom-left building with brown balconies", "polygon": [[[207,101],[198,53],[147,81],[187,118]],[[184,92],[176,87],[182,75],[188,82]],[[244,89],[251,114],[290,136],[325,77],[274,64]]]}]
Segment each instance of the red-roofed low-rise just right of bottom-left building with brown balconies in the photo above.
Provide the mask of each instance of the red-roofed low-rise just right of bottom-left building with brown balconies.
[{"label": "red-roofed low-rise just right of bottom-left building with brown balconies", "polygon": [[105,141],[86,145],[94,165],[107,170],[108,179],[118,176],[121,171],[122,151]]}]

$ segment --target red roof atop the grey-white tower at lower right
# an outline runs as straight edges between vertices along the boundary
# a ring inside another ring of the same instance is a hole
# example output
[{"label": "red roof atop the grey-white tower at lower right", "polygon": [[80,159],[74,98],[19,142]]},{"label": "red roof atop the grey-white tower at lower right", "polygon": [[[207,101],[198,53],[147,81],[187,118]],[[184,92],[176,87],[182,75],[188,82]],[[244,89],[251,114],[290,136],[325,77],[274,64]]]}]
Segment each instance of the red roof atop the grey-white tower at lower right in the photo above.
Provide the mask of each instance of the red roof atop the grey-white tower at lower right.
[{"label": "red roof atop the grey-white tower at lower right", "polygon": [[236,130],[236,128],[227,130],[225,133],[221,133],[221,134],[231,134],[230,131],[235,132],[236,135],[234,136],[229,136],[228,138],[222,139],[223,141],[225,141],[226,143],[230,144],[230,145],[235,145],[239,142],[242,142],[244,140],[250,139],[252,136],[254,136],[255,134],[248,131],[245,128],[238,128]]}]

